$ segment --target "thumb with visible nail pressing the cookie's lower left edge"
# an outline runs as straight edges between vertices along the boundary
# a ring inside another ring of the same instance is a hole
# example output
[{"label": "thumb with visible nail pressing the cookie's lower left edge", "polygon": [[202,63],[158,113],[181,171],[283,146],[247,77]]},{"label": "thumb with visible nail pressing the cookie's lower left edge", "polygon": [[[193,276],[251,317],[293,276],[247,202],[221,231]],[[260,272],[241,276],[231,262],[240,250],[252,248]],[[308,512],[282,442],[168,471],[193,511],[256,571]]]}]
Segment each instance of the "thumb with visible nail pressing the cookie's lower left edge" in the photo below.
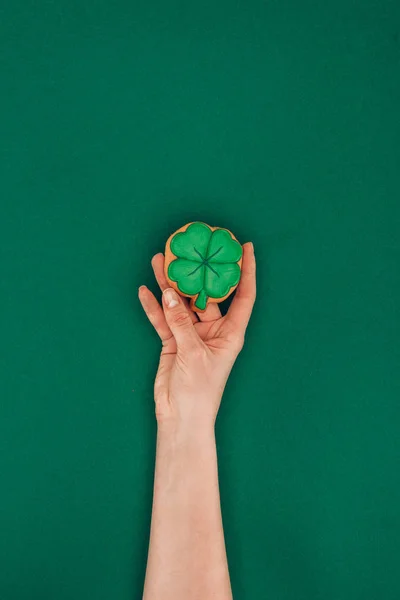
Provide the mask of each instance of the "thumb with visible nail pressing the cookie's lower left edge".
[{"label": "thumb with visible nail pressing the cookie's lower left edge", "polygon": [[167,288],[163,292],[162,299],[165,319],[176,340],[178,350],[193,348],[199,342],[199,337],[181,297],[174,289]]}]

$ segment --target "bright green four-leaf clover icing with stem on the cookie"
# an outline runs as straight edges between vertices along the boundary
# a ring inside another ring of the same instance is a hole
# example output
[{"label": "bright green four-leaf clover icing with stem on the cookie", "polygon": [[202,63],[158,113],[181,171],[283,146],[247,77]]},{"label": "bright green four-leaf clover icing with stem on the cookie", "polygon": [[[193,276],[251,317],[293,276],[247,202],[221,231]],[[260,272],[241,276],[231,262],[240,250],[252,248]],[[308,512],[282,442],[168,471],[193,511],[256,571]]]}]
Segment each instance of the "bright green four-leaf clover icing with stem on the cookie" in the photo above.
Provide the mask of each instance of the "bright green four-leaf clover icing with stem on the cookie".
[{"label": "bright green four-leaf clover icing with stem on the cookie", "polygon": [[212,231],[204,223],[192,223],[174,235],[171,251],[177,258],[168,267],[168,277],[183,294],[198,294],[195,306],[200,310],[208,298],[223,298],[239,283],[242,246],[226,229]]}]

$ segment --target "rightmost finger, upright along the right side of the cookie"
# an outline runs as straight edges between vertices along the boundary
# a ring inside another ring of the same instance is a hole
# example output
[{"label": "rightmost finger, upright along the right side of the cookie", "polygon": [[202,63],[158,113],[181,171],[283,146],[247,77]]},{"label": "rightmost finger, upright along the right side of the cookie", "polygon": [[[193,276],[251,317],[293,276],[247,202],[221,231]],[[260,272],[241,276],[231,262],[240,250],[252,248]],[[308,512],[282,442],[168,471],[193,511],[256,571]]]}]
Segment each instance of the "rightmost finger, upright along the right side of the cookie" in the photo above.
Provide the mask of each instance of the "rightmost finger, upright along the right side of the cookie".
[{"label": "rightmost finger, upright along the right side of the cookie", "polygon": [[251,242],[243,245],[242,275],[227,319],[237,333],[244,335],[256,299],[256,259]]}]

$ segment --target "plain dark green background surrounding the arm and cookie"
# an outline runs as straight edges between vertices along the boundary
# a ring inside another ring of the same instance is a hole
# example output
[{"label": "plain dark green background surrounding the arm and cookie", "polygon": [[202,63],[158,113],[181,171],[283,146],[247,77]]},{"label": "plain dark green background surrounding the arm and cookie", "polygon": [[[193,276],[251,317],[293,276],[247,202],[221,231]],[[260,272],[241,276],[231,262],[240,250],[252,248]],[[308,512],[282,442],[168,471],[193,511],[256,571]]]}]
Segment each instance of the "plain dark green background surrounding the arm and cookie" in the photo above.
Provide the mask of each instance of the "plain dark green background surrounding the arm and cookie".
[{"label": "plain dark green background surrounding the arm and cookie", "polygon": [[237,600],[400,597],[400,4],[2,2],[1,600],[139,600],[188,220],[253,240],[217,433]]}]

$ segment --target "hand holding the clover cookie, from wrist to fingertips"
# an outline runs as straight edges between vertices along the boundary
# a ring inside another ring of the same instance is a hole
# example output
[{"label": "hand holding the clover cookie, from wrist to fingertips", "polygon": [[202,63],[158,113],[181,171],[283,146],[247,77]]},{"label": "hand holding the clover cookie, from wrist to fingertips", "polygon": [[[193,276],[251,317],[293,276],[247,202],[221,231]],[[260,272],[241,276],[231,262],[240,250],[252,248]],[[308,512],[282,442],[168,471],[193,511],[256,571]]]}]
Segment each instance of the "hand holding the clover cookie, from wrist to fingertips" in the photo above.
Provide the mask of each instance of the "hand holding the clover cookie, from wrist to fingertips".
[{"label": "hand holding the clover cookie, from wrist to fingertips", "polygon": [[253,244],[243,246],[242,276],[225,316],[216,303],[208,303],[202,313],[191,311],[187,299],[168,287],[163,254],[153,257],[152,266],[163,292],[162,308],[146,286],[139,288],[139,299],[162,341],[154,385],[158,427],[209,429],[243,346],[256,297]]}]

